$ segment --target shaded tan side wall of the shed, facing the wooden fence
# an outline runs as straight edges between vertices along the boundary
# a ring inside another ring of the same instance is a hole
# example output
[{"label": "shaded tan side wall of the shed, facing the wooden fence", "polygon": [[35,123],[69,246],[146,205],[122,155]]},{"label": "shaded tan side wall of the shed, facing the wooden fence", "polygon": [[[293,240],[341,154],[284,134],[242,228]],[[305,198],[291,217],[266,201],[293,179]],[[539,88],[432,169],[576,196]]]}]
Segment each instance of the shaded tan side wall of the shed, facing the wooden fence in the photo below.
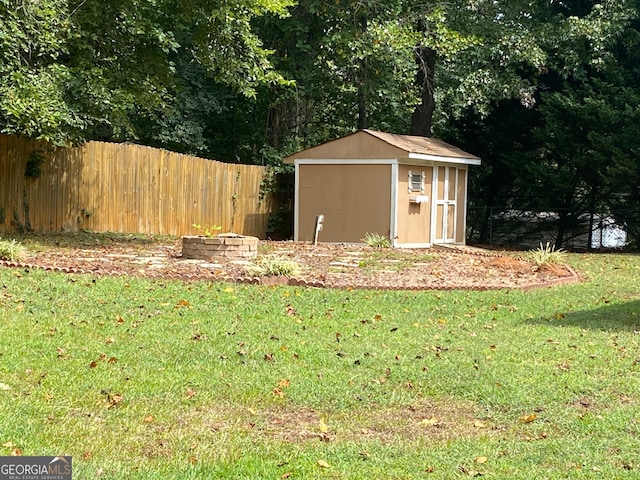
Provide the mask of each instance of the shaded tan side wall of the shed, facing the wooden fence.
[{"label": "shaded tan side wall of the shed, facing the wooden fence", "polygon": [[365,233],[389,235],[391,165],[300,165],[298,240],[313,239],[324,215],[322,242],[360,242]]}]

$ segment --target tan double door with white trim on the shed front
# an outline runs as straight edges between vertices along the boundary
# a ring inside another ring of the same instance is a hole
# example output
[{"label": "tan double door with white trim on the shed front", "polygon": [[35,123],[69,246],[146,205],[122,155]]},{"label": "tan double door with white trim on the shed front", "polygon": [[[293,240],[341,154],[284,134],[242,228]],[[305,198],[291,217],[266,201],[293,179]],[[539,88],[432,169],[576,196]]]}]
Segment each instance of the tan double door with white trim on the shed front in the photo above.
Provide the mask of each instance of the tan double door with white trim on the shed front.
[{"label": "tan double door with white trim on the shed front", "polygon": [[432,238],[433,243],[455,243],[458,169],[438,166],[434,169]]}]

